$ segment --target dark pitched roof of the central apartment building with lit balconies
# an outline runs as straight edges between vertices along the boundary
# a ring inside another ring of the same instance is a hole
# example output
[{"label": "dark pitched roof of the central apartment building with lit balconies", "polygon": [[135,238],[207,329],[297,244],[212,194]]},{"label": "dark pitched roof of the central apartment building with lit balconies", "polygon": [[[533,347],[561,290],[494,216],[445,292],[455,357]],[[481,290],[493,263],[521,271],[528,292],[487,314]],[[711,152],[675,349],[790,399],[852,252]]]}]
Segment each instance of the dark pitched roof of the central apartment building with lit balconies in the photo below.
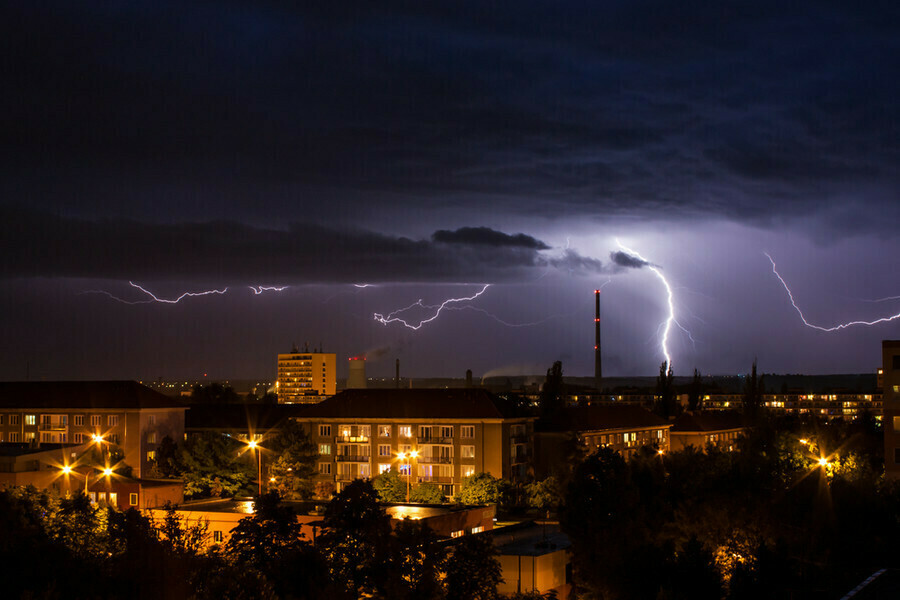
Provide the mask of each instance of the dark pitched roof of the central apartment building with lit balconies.
[{"label": "dark pitched roof of the central apartment building with lit balconies", "polygon": [[463,389],[345,390],[303,412],[304,418],[504,419],[513,407],[490,392]]}]

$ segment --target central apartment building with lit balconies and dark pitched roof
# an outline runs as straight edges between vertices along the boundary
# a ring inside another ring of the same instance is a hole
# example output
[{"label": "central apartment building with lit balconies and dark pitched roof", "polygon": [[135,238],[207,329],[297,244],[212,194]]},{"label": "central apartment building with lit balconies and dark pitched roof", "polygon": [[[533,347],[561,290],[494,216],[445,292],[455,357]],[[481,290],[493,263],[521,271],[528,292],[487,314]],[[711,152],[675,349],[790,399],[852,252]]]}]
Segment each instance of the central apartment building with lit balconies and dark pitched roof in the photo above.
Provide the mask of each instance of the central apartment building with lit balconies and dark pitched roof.
[{"label": "central apartment building with lit balconies and dark pitched roof", "polygon": [[319,447],[319,479],[337,490],[392,468],[447,496],[475,473],[530,473],[534,417],[482,389],[345,390],[298,421]]}]

